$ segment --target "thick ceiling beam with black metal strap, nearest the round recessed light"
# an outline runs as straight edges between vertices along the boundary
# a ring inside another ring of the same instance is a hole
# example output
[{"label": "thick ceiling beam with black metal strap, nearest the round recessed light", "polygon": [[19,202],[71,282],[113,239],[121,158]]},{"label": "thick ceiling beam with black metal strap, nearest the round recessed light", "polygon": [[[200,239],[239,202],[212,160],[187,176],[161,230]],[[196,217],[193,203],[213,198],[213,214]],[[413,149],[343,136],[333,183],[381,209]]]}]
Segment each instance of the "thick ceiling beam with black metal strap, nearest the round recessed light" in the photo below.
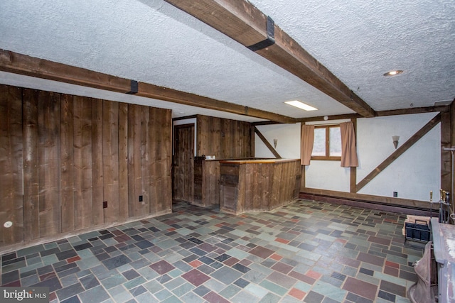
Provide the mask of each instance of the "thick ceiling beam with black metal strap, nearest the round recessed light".
[{"label": "thick ceiling beam with black metal strap, nearest the round recessed light", "polygon": [[[246,47],[268,38],[267,16],[246,0],[165,1]],[[277,25],[272,26],[274,44],[255,50],[258,55],[291,72],[360,116],[375,116],[375,111],[346,84],[307,53],[281,28]]]}]

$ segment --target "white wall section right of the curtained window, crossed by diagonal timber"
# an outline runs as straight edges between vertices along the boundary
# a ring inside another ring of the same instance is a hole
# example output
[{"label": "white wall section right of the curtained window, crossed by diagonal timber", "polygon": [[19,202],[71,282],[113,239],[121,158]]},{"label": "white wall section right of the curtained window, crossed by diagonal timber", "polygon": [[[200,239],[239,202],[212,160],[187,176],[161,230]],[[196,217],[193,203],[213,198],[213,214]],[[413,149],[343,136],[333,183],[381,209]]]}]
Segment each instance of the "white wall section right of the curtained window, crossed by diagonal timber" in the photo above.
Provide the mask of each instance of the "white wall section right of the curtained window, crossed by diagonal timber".
[{"label": "white wall section right of the curtained window, crossed by diagonal timber", "polygon": [[[392,136],[400,136],[398,146],[405,143],[437,113],[387,116],[358,119],[357,182],[363,180],[395,147]],[[374,194],[427,201],[429,191],[439,192],[441,186],[441,125],[412,145],[400,158],[368,183],[360,194]]]}]

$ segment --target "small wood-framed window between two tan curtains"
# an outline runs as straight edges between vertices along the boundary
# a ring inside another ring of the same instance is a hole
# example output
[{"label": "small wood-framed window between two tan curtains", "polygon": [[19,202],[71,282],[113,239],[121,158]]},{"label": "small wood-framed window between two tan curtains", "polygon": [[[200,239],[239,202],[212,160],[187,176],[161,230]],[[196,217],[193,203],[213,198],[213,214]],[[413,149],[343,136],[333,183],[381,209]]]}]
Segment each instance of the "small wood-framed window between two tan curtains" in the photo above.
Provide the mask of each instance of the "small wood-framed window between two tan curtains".
[{"label": "small wood-framed window between two tan curtains", "polygon": [[315,126],[312,160],[341,160],[341,131],[339,125]]}]

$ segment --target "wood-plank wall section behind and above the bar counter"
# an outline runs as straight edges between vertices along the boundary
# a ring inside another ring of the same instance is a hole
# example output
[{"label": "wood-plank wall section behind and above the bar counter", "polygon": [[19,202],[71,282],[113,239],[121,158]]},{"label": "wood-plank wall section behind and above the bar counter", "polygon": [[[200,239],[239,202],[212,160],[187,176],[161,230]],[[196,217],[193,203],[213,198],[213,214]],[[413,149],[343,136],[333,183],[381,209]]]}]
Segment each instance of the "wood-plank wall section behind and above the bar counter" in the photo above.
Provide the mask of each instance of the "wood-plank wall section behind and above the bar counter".
[{"label": "wood-plank wall section behind and above the bar counter", "polygon": [[251,123],[210,116],[197,116],[198,156],[217,159],[251,158],[255,150]]}]

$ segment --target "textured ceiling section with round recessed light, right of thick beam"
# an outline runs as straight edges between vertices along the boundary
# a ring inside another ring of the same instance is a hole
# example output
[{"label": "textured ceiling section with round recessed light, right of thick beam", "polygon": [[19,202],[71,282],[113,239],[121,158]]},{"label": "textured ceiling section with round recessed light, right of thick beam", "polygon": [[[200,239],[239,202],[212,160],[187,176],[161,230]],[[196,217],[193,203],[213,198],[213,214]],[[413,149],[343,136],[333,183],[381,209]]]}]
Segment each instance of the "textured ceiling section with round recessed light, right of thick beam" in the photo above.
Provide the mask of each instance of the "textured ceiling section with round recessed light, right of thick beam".
[{"label": "textured ceiling section with round recessed light, right of thick beam", "polygon": [[310,2],[252,1],[375,111],[454,99],[455,1]]}]

